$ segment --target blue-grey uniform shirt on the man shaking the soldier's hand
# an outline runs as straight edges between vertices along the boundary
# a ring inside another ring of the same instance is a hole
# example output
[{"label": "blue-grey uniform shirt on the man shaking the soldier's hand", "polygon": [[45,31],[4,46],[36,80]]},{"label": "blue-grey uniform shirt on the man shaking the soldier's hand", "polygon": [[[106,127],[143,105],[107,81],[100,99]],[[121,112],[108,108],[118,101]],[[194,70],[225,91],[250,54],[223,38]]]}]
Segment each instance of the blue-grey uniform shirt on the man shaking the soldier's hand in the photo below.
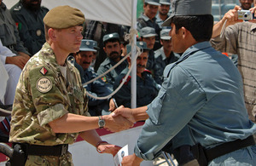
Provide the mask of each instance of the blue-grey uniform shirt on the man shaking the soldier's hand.
[{"label": "blue-grey uniform shirt on the man shaking the soldier's hand", "polygon": [[241,75],[228,57],[203,42],[187,49],[175,64],[166,66],[162,88],[148,105],[149,118],[135,147],[137,157],[154,159],[186,124],[195,143],[206,148],[255,133]]}]

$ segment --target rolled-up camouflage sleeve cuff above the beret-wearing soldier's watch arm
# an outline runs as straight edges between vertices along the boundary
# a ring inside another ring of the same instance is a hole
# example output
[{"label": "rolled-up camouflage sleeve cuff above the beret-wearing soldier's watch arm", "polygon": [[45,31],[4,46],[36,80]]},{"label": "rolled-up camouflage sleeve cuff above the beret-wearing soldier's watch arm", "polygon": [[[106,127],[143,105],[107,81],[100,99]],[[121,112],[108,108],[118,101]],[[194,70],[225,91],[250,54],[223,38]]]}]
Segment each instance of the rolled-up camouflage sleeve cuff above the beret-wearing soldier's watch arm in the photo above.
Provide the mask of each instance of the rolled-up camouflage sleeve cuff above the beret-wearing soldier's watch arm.
[{"label": "rolled-up camouflage sleeve cuff above the beret-wearing soldier's watch arm", "polygon": [[67,110],[62,104],[51,106],[43,112],[38,113],[38,122],[41,126],[54,121],[55,119],[67,114]]}]

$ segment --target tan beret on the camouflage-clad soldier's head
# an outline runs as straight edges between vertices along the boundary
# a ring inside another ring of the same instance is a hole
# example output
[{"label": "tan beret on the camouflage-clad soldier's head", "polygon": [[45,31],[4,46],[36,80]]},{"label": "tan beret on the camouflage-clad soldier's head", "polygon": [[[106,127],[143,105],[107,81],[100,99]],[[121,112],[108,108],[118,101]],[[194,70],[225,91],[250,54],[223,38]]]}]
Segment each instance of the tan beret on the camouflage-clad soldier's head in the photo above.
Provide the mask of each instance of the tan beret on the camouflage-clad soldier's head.
[{"label": "tan beret on the camouflage-clad soldier's head", "polygon": [[84,23],[84,14],[70,6],[58,6],[44,16],[44,24],[55,29],[65,29]]}]

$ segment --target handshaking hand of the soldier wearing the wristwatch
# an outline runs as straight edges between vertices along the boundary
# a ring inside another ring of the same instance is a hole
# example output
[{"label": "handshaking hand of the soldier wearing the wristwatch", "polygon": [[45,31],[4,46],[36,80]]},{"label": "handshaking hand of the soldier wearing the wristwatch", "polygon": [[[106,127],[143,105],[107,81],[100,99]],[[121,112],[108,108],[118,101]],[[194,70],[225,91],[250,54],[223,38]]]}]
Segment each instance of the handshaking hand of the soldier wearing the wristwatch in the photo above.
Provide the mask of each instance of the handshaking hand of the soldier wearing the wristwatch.
[{"label": "handshaking hand of the soldier wearing the wristwatch", "polygon": [[122,116],[112,117],[112,115],[104,115],[105,128],[112,132],[119,132],[125,129],[130,129],[133,126],[129,120]]}]

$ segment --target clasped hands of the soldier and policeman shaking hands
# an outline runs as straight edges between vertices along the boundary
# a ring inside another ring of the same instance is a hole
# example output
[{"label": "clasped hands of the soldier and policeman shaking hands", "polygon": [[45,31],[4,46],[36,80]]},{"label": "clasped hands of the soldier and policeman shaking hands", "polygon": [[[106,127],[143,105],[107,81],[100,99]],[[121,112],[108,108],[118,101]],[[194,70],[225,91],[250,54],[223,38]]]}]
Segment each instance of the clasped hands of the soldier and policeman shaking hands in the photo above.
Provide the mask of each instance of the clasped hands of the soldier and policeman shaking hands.
[{"label": "clasped hands of the soldier and policeman shaking hands", "polygon": [[130,129],[137,121],[146,120],[148,118],[146,110],[147,106],[134,109],[119,106],[109,115],[102,116],[106,122],[104,128],[112,132]]}]

